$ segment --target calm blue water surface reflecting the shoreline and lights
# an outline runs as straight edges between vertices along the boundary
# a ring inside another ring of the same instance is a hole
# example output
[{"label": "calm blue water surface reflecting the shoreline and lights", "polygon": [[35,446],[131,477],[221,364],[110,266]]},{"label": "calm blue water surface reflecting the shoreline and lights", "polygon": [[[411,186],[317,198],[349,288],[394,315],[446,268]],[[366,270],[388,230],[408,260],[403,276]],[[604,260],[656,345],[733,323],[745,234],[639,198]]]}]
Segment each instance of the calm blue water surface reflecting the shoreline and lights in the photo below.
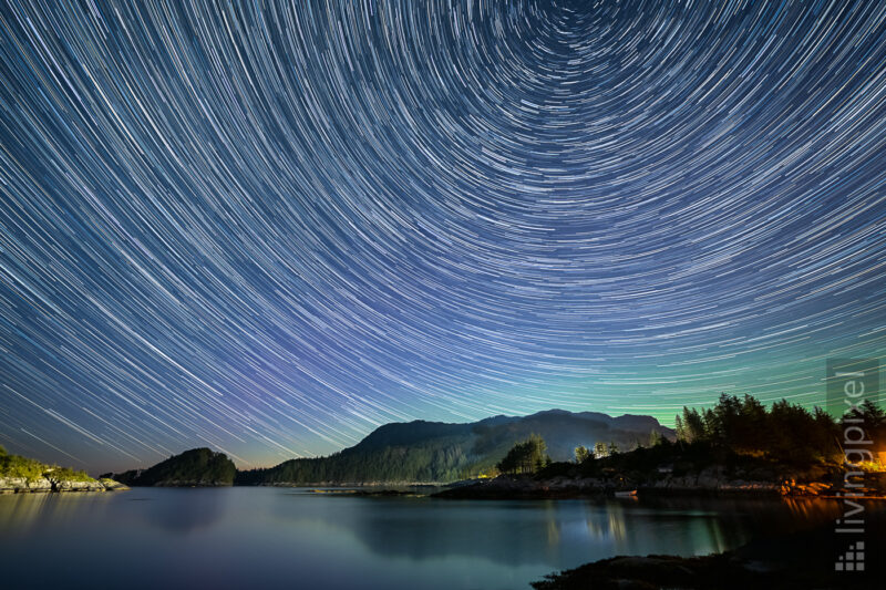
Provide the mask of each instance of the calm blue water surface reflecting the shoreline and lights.
[{"label": "calm blue water surface reflecting the shoreline and lights", "polygon": [[288,488],[0,496],[7,588],[528,589],[625,553],[721,551],[825,501],[446,501]]}]

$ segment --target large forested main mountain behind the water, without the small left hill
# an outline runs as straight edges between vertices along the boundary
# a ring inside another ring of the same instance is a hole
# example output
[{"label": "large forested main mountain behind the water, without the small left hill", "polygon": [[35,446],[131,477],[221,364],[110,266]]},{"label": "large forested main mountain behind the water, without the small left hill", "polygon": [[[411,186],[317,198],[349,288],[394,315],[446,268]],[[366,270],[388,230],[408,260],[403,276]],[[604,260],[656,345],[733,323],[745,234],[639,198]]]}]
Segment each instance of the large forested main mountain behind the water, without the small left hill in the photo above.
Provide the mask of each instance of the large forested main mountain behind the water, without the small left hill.
[{"label": "large forested main mountain behind the water, without the small left hill", "polygon": [[268,469],[238,472],[239,485],[454,482],[493,473],[511,447],[540,435],[554,460],[568,460],[579,445],[617,443],[631,448],[655,431],[673,431],[650,416],[562,410],[525,417],[495,416],[471,424],[415,421],[385,424],[353,447],[322,458],[292,459]]}]

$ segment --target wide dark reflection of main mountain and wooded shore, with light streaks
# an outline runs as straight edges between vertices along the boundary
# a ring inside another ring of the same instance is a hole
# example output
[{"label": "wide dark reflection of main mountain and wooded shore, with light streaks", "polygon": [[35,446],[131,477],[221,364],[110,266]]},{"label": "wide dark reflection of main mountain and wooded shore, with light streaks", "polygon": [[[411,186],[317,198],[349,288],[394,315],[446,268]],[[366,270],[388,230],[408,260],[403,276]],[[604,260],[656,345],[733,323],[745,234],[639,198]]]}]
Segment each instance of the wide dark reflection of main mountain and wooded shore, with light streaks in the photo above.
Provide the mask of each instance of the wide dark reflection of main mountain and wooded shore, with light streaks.
[{"label": "wide dark reflection of main mountain and wooded shore, with light streaks", "polygon": [[[291,503],[278,504],[280,518],[293,526],[346,530],[378,555],[470,556],[513,566],[559,566],[619,553],[722,551],[812,526],[838,508],[832,503],[803,511],[772,499],[715,498],[542,503],[338,497],[298,503],[299,513]],[[301,509],[305,505],[311,509]]]}]

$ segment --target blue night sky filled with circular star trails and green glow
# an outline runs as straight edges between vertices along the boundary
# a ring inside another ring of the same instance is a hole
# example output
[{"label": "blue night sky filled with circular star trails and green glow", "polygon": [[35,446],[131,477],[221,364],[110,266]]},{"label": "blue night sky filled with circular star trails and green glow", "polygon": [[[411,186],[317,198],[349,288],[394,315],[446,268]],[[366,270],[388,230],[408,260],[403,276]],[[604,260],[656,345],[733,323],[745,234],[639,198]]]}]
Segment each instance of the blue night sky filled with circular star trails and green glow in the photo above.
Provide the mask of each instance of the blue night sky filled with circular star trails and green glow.
[{"label": "blue night sky filled with circular star trails and green glow", "polygon": [[672,424],[886,356],[886,3],[293,3],[2,2],[9,451]]}]

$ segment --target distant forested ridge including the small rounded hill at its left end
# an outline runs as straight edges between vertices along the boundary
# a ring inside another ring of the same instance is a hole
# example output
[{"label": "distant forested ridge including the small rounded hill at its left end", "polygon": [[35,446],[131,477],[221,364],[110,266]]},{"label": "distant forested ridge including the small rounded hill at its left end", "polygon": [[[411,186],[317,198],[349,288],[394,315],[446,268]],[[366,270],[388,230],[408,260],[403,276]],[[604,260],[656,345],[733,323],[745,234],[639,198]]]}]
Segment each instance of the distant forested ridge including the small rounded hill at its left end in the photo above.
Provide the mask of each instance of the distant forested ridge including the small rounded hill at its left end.
[{"label": "distant forested ridge including the small rounded hill at its left end", "polygon": [[493,473],[507,451],[530,434],[546,441],[554,460],[571,460],[579,445],[616,443],[627,449],[646,444],[652,432],[674,438],[674,431],[652,416],[560,408],[465,423],[414,420],[382,424],[324,457],[235,470],[223,453],[198,448],[114,477],[132,486],[442,484]]}]

